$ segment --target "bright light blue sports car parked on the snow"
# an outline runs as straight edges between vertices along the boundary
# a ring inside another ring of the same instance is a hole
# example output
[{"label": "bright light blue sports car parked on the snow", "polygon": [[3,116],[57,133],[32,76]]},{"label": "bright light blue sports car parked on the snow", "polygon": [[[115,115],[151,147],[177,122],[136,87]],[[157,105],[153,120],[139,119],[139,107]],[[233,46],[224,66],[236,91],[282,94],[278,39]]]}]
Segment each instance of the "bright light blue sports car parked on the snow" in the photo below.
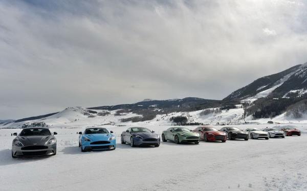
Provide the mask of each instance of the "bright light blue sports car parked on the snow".
[{"label": "bright light blue sports car parked on the snow", "polygon": [[79,147],[81,152],[90,150],[115,150],[116,137],[105,128],[87,128],[79,132]]}]

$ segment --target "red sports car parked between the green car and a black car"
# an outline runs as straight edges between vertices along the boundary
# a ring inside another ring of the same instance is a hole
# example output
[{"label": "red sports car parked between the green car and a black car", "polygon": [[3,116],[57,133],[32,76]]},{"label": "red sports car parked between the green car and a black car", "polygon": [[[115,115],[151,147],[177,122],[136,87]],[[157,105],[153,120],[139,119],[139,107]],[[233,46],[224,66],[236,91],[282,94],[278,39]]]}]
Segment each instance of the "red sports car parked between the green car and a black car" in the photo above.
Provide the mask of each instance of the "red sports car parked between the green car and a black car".
[{"label": "red sports car parked between the green car and a black car", "polygon": [[202,140],[208,142],[222,141],[226,142],[226,133],[218,131],[211,126],[199,126],[193,132],[199,133]]}]

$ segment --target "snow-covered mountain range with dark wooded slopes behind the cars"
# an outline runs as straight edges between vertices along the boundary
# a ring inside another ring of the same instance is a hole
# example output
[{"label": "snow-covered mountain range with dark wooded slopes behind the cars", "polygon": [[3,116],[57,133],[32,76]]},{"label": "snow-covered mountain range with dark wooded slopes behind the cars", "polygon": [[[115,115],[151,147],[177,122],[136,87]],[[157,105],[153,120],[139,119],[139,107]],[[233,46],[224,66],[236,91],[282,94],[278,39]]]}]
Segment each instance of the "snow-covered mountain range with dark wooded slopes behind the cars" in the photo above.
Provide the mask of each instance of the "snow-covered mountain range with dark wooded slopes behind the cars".
[{"label": "snow-covered mountain range with dark wooded slopes behind the cars", "polygon": [[0,128],[96,125],[172,125],[174,118],[189,124],[242,124],[274,121],[307,123],[307,63],[259,78],[223,100],[195,97],[145,99],[132,104],[93,108],[73,107],[58,113],[16,121],[0,121]]}]

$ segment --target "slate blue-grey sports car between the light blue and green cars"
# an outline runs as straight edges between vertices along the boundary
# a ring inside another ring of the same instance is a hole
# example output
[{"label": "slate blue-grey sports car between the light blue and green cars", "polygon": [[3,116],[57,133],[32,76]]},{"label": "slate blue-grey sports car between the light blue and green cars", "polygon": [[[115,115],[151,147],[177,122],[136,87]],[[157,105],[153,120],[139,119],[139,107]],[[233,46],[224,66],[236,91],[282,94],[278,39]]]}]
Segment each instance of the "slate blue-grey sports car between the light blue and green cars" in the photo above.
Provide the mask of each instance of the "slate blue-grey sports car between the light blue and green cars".
[{"label": "slate blue-grey sports car between the light blue and green cars", "polygon": [[129,128],[121,134],[121,143],[130,143],[131,147],[160,146],[160,136],[147,128]]}]

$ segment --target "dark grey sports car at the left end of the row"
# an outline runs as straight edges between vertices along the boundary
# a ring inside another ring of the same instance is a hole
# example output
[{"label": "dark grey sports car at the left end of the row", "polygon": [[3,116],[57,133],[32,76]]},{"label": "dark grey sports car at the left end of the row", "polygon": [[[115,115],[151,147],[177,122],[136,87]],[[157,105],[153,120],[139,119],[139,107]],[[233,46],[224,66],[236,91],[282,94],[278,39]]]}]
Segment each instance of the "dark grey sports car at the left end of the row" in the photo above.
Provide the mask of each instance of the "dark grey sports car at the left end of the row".
[{"label": "dark grey sports car at the left end of the row", "polygon": [[56,155],[56,132],[51,134],[47,128],[25,128],[14,138],[12,157]]}]

